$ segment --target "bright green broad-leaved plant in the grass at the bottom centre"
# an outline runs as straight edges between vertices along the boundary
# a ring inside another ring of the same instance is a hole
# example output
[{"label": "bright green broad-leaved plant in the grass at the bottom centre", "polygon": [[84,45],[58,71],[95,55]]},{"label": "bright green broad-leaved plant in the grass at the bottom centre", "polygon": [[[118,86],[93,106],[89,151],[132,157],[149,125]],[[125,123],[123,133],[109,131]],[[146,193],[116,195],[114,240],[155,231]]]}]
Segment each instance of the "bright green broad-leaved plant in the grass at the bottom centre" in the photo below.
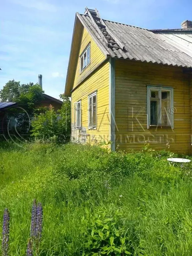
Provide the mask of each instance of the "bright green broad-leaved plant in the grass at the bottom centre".
[{"label": "bright green broad-leaved plant in the grass at the bottom centre", "polygon": [[91,214],[89,217],[83,216],[82,223],[87,227],[83,256],[132,255],[126,232],[118,225],[119,215],[119,210],[113,216],[104,210],[95,215]]}]

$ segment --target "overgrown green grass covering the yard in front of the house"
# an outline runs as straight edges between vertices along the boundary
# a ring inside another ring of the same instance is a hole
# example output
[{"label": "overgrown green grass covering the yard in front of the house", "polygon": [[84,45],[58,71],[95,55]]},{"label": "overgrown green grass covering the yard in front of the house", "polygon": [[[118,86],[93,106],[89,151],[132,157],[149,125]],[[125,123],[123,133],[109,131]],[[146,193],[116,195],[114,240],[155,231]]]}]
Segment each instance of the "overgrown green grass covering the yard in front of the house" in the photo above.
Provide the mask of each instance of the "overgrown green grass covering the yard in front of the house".
[{"label": "overgrown green grass covering the yard in front of the house", "polygon": [[192,165],[169,166],[169,154],[1,144],[0,216],[8,207],[9,255],[26,254],[36,198],[44,209],[39,255],[191,256]]}]

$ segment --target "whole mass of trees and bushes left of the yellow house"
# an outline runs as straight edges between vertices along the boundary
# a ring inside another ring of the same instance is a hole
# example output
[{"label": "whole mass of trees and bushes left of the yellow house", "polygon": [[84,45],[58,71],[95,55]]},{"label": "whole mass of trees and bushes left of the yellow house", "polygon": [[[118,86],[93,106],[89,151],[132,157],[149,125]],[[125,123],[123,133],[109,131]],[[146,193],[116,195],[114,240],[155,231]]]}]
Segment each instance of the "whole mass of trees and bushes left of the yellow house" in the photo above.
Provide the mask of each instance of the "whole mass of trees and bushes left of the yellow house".
[{"label": "whole mass of trees and bushes left of the yellow house", "polygon": [[[38,84],[20,84],[8,81],[0,90],[1,101],[18,103],[8,110],[8,116],[16,120],[16,133],[31,134],[35,139],[66,142],[71,133],[71,101],[64,94],[60,94],[63,105],[58,111],[53,106],[37,107],[44,99],[44,91]],[[35,118],[34,118],[35,117]],[[33,121],[31,121],[33,120]],[[13,131],[13,129],[12,129]]]}]

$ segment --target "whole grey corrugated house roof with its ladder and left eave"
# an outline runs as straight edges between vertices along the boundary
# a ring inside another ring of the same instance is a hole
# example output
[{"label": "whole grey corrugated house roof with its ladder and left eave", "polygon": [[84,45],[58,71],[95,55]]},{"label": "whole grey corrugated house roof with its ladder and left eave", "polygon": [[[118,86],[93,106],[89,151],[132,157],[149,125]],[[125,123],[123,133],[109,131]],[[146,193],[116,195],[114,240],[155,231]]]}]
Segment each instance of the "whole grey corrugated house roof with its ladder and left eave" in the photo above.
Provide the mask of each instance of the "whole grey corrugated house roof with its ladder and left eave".
[{"label": "whole grey corrugated house roof with its ladder and left eave", "polygon": [[[86,8],[84,14],[76,13],[65,85],[67,96],[70,95],[78,57],[78,47],[74,49],[74,38],[80,39],[82,31],[77,29],[77,21],[88,30],[106,58],[192,68],[192,29],[148,30],[102,19],[97,9]],[[80,27],[79,23],[78,26]],[[76,56],[73,60],[72,52]]]}]

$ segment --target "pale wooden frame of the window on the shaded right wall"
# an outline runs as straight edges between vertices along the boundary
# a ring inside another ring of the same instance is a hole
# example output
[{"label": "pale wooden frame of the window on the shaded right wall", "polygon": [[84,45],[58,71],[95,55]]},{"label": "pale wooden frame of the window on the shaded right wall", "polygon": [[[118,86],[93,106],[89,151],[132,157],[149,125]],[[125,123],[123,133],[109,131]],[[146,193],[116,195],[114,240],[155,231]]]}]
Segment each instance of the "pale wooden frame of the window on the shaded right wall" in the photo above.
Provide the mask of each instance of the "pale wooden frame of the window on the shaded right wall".
[{"label": "pale wooden frame of the window on the shaded right wall", "polygon": [[[159,120],[157,125],[150,125],[150,118],[151,118],[151,109],[150,109],[150,100],[151,100],[151,91],[158,92],[159,98]],[[162,119],[161,119],[161,91],[170,92],[170,126],[172,129],[174,128],[174,98],[173,98],[173,87],[166,87],[166,86],[154,86],[154,85],[147,85],[147,129],[151,127],[163,126]],[[167,125],[166,125],[167,127]]]}]

